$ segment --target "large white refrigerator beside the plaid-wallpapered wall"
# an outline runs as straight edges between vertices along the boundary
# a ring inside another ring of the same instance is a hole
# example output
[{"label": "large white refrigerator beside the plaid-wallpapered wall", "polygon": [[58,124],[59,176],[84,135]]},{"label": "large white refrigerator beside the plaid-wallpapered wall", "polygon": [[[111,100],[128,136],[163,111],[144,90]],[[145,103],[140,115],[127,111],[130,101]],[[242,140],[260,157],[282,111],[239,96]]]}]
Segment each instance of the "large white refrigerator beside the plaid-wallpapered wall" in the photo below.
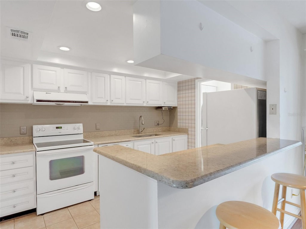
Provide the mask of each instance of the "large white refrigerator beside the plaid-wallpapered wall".
[{"label": "large white refrigerator beside the plaid-wallpapered wall", "polygon": [[266,137],[266,109],[265,89],[203,93],[201,145]]}]

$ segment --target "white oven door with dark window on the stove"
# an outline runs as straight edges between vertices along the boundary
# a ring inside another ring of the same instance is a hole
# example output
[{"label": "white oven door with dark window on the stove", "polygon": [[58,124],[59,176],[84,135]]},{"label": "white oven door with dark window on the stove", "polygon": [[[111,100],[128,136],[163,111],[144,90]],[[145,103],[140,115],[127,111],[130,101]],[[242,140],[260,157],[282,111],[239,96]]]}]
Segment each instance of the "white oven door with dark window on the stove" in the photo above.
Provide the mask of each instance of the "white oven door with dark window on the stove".
[{"label": "white oven door with dark window on the stove", "polygon": [[37,194],[92,182],[93,148],[82,146],[36,152]]}]

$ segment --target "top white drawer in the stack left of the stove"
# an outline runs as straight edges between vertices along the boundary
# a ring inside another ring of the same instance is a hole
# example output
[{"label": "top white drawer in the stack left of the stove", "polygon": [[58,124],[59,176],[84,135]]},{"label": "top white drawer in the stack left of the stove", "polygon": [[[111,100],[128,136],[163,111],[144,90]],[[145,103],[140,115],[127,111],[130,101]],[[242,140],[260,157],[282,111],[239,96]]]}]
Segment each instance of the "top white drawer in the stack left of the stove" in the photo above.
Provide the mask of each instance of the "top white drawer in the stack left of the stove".
[{"label": "top white drawer in the stack left of the stove", "polygon": [[33,154],[0,158],[1,171],[12,168],[23,168],[28,166],[33,166]]}]

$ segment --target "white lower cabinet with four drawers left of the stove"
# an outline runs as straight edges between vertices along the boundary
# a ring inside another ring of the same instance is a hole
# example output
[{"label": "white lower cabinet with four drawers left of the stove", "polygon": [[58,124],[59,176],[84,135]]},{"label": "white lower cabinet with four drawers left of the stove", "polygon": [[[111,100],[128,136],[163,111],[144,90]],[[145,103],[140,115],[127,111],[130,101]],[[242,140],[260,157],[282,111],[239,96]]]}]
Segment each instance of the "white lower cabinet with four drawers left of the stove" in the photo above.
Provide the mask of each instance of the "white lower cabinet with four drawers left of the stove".
[{"label": "white lower cabinet with four drawers left of the stove", "polygon": [[0,216],[36,208],[35,152],[0,156]]}]

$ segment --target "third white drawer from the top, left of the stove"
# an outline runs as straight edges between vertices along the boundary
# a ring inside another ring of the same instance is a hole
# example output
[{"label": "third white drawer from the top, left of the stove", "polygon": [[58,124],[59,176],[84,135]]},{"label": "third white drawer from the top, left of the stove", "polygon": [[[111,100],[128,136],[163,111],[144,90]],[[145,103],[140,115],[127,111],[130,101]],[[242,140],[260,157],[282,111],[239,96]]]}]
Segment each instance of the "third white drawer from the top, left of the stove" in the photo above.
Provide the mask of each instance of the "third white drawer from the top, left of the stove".
[{"label": "third white drawer from the top, left of the stove", "polygon": [[10,185],[1,185],[0,200],[18,197],[34,192],[34,181],[22,182]]}]

